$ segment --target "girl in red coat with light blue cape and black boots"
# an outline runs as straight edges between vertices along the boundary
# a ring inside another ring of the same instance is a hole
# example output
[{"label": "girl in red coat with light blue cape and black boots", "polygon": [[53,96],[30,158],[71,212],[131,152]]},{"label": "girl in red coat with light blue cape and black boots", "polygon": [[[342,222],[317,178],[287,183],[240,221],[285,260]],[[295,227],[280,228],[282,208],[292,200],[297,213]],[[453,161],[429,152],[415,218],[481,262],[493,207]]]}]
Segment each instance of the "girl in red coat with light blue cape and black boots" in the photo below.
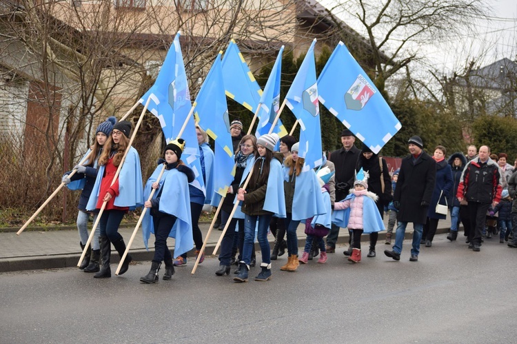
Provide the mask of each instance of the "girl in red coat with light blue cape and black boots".
[{"label": "girl in red coat with light blue cape and black boots", "polygon": [[[88,199],[88,205],[86,205],[86,209],[92,211],[101,209],[103,203],[107,202],[99,220],[102,267],[97,274],[94,274],[96,279],[111,277],[111,244],[119,256],[122,257],[125,252],[125,243],[119,233],[119,225],[126,212],[143,205],[140,158],[133,147],[130,147],[125,156],[118,178],[112,183],[124,152],[130,143],[131,128],[132,125],[129,121],[120,121],[113,126],[111,136],[108,137],[99,157],[99,172],[90,199]],[[128,271],[131,260],[131,255],[128,254],[119,275]]]}]

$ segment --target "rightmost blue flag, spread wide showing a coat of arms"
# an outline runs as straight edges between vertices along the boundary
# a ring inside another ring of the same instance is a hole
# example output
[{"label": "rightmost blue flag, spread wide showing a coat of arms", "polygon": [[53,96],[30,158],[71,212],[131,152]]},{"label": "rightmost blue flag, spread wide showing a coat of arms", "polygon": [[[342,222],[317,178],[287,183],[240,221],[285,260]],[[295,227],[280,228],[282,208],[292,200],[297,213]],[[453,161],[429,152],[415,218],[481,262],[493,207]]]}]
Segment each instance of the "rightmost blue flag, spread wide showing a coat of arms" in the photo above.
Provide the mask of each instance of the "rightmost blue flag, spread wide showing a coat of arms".
[{"label": "rightmost blue flag, spread wide showing a coat of arms", "polygon": [[325,108],[374,153],[402,128],[381,92],[343,42],[339,42],[323,68],[318,90]]}]

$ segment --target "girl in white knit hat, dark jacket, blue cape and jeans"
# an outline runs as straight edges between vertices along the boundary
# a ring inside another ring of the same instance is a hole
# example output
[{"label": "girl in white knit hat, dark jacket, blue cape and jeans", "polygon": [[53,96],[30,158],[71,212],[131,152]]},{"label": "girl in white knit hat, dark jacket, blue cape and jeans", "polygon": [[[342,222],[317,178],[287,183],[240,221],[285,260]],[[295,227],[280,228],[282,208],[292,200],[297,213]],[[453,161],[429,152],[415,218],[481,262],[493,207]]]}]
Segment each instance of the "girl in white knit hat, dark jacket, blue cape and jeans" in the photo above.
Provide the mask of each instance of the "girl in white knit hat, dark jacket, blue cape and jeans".
[{"label": "girl in white knit hat, dark jacket, blue cape and jeans", "polygon": [[[258,240],[261,246],[261,272],[255,281],[271,279],[270,243],[267,241],[267,228],[271,217],[285,217],[285,199],[283,194],[282,165],[273,156],[273,150],[278,142],[277,134],[265,134],[256,141],[259,156],[250,169],[250,182],[244,190],[239,188],[237,200],[243,201],[242,212],[244,221],[243,259],[239,262],[241,271],[234,277],[236,282],[247,282],[248,270],[254,247],[255,227],[258,226]],[[243,174],[247,178],[247,174]]]}]

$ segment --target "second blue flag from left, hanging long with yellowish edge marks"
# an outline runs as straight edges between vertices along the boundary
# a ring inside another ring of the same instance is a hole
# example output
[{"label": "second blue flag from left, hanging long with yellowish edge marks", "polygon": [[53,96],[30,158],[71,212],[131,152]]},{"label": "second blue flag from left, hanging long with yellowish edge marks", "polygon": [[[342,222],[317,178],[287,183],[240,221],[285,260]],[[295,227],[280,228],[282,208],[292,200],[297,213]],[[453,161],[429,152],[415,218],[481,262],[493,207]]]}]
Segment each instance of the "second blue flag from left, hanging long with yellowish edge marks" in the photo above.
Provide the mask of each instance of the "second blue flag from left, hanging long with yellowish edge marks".
[{"label": "second blue flag from left, hanging long with yellowish edge marks", "polygon": [[194,101],[194,107],[196,117],[199,119],[199,126],[215,141],[214,190],[221,196],[226,196],[226,192],[234,180],[235,166],[221,68],[221,53],[217,55],[210,72],[201,85],[201,90]]}]

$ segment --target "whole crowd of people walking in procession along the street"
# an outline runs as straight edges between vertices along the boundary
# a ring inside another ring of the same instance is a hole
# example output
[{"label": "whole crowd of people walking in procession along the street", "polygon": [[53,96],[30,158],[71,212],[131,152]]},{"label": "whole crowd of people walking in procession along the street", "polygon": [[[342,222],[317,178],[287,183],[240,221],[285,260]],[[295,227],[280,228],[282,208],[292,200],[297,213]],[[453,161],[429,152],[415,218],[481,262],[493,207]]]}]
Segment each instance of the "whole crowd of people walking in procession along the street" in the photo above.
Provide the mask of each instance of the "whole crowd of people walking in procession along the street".
[{"label": "whole crowd of people walking in procession along the street", "polygon": [[[97,219],[103,209],[79,269],[94,272],[98,279],[111,277],[112,245],[119,256],[125,252],[119,234],[121,220],[126,212],[145,207],[144,235],[149,239],[154,233],[154,257],[150,271],[140,281],[155,283],[162,262],[163,279],[172,279],[174,267],[187,265],[187,252],[192,247],[199,263],[205,259],[199,219],[203,206],[210,204],[214,195],[214,152],[207,134],[196,126],[205,192],[191,184],[194,172],[181,160],[183,139],[165,146],[144,189],[138,152],[131,147],[122,159],[131,130],[130,122],[116,122],[114,117],[99,124],[85,162],[74,166],[77,173],[71,178],[67,172],[63,182],[72,190],[82,190],[77,216],[82,249],[88,241],[90,214]],[[516,199],[516,166],[507,163],[505,153],[491,155],[487,145],[480,146],[479,152],[470,145],[467,154],[454,152],[447,159],[443,145],[436,146],[430,155],[422,139],[412,136],[407,141],[409,154],[400,168],[390,173],[385,159],[367,147],[356,148],[356,137],[345,129],[341,132],[343,147],[328,159],[323,154],[323,164],[307,171],[294,136],[279,139],[276,134],[265,134],[256,138],[243,135],[242,130],[241,121],[230,123],[236,169],[221,203],[218,221],[227,230],[216,276],[230,275],[231,266],[236,264],[233,280],[248,281],[250,267],[256,264],[255,239],[261,250],[261,271],[255,281],[272,278],[272,261],[286,249],[287,263],[279,267],[281,271],[294,272],[318,255],[317,263],[325,263],[327,254],[336,250],[341,228],[349,232],[349,248],[344,252],[349,262],[361,262],[362,234],[369,236],[367,257],[376,257],[378,232],[383,230],[387,230],[385,244],[391,245],[394,240],[392,249],[384,251],[385,256],[399,261],[409,222],[414,228],[409,261],[416,262],[420,245],[432,247],[438,222],[446,216],[451,216],[447,239],[456,241],[462,224],[465,241],[474,252],[497,233],[500,243],[517,247],[517,235],[512,235],[512,230],[516,231],[513,225],[517,227],[517,201],[512,202]],[[120,173],[114,178],[122,161]],[[230,219],[234,207],[237,211]],[[387,228],[385,214],[389,216]],[[298,255],[296,230],[301,222],[305,222],[307,238],[303,253]],[[273,247],[267,239],[269,233],[274,235]],[[167,245],[169,236],[175,239],[176,259]],[[131,261],[130,254],[125,256],[119,274],[128,270]]]}]

